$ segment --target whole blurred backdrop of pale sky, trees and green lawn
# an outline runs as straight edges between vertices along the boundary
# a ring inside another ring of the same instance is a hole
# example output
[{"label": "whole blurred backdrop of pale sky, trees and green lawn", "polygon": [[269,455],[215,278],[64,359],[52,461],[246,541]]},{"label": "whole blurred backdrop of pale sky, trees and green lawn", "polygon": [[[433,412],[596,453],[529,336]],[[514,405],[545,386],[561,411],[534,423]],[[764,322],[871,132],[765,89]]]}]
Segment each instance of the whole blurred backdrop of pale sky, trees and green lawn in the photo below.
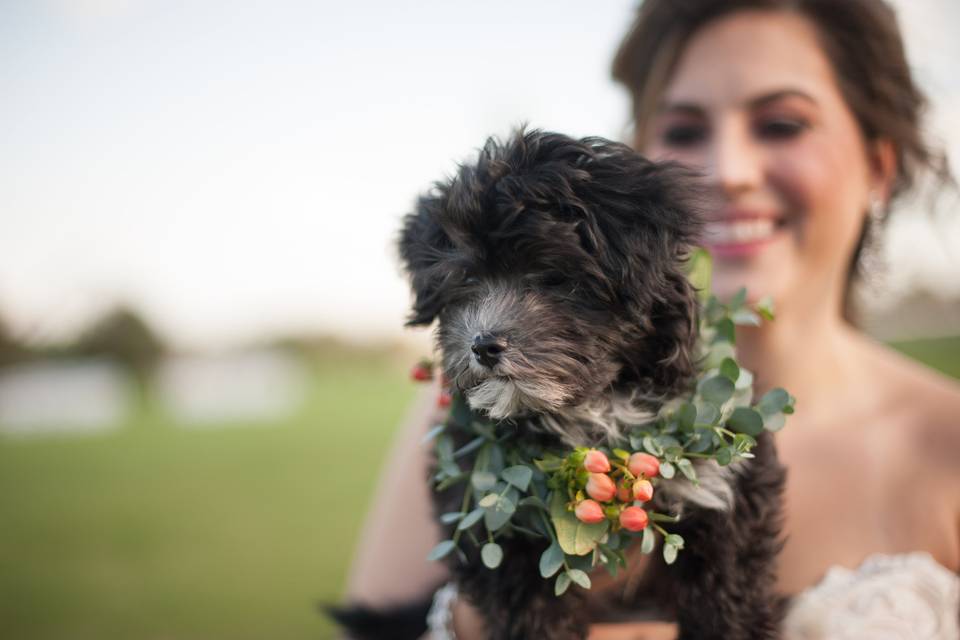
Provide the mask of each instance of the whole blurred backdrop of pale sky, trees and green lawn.
[{"label": "whole blurred backdrop of pale sky, trees and green lawn", "polygon": [[[956,160],[960,4],[895,4]],[[520,122],[622,139],[634,6],[0,2],[0,637],[328,637],[430,350],[400,217]],[[960,376],[926,207],[861,298]]]}]

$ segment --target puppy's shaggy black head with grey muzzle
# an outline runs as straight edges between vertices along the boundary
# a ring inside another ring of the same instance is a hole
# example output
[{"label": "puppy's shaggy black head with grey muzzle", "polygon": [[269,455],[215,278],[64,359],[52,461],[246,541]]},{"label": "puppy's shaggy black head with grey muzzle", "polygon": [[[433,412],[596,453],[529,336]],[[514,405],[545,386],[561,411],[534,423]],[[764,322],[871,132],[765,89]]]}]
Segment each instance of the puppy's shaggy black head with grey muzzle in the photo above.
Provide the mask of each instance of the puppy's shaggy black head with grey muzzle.
[{"label": "puppy's shaggy black head with grey muzzle", "polygon": [[691,193],[681,169],[606,140],[490,140],[405,219],[408,324],[439,318],[444,373],[495,419],[678,390],[694,373]]}]

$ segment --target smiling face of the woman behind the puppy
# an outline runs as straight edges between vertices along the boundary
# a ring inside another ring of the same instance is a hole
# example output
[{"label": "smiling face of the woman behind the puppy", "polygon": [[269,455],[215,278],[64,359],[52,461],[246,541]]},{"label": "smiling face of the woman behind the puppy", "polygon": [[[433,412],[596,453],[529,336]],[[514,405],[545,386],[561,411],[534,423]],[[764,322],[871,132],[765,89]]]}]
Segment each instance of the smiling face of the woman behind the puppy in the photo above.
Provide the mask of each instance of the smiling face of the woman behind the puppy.
[{"label": "smiling face of the woman behind the puppy", "polygon": [[646,154],[697,167],[708,181],[715,293],[746,286],[752,300],[839,313],[876,181],[811,23],[744,11],[708,24],[647,131]]}]

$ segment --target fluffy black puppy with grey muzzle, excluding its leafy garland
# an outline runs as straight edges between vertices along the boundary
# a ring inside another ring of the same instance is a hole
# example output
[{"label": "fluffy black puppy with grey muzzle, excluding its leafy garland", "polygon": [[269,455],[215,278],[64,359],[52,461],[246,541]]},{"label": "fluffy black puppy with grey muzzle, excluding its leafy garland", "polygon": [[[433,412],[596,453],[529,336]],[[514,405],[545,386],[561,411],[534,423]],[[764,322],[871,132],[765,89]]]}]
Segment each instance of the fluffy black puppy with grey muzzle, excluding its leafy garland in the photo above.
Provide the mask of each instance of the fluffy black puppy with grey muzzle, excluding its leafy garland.
[{"label": "fluffy black puppy with grey muzzle, excluding its leafy garland", "polygon": [[[439,319],[444,373],[475,411],[516,437],[557,448],[603,443],[694,383],[697,303],[683,262],[699,230],[695,194],[680,167],[600,138],[520,131],[490,140],[404,221],[400,253],[415,294],[408,324]],[[684,510],[675,530],[686,548],[669,567],[658,559],[649,589],[625,607],[652,598],[683,639],[777,637],[784,472],[768,435],[756,453],[713,476],[728,508],[658,490],[661,506]],[[459,511],[464,490],[436,493],[436,512]],[[498,542],[506,559],[496,570],[471,545],[463,545],[467,562],[450,556],[489,636],[585,637],[586,592],[557,598],[539,575],[546,543]],[[427,604],[335,615],[358,638],[415,638],[425,626],[401,632],[398,614],[415,620]]]}]

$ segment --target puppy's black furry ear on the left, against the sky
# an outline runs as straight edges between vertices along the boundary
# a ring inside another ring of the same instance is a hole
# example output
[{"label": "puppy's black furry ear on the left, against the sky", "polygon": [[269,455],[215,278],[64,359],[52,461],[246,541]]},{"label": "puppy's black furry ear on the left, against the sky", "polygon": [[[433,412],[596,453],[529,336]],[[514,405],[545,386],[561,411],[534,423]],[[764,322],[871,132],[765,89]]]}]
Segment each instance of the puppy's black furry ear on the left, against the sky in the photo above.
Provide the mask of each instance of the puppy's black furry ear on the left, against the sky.
[{"label": "puppy's black furry ear on the left, against the sky", "polygon": [[413,290],[413,309],[407,326],[426,326],[444,306],[443,285],[449,279],[447,258],[453,242],[437,222],[445,198],[442,193],[420,196],[400,230],[400,259]]}]

